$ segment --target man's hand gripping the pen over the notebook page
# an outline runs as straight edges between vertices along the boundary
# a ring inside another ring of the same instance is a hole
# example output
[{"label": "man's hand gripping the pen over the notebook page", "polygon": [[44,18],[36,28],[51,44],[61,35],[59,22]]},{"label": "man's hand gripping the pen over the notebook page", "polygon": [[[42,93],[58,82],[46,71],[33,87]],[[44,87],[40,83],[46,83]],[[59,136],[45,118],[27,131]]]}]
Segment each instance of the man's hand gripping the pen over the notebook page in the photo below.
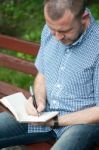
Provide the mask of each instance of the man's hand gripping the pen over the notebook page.
[{"label": "man's hand gripping the pen over the notebook page", "polygon": [[33,106],[33,99],[32,97],[29,97],[28,103],[26,106],[26,111],[29,115],[37,116],[38,113],[41,113],[45,109],[45,104],[42,100],[36,100],[37,102],[37,109]]}]

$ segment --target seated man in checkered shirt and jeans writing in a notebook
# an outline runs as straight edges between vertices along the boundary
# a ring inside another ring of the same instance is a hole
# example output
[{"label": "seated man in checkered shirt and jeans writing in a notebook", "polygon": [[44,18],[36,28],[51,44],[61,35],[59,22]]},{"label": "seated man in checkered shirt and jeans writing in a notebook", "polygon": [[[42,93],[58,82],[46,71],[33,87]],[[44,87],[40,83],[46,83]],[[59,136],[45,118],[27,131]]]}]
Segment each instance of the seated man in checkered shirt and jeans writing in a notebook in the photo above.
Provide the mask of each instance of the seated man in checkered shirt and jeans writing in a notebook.
[{"label": "seated man in checkered shirt and jeans writing in a notebook", "polygon": [[84,0],[45,0],[44,16],[35,62],[38,107],[30,98],[27,111],[59,111],[59,116],[29,124],[27,133],[27,124],[1,113],[0,146],[56,139],[52,150],[91,150],[99,142],[99,25]]}]

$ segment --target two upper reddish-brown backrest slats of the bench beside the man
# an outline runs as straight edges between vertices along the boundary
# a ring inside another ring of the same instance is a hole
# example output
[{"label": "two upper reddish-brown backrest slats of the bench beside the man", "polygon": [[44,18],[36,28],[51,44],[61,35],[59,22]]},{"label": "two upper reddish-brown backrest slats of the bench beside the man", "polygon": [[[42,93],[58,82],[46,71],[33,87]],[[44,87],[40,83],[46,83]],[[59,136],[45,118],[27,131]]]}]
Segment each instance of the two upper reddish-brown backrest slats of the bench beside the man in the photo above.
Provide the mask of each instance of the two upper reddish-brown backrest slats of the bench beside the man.
[{"label": "two upper reddish-brown backrest slats of the bench beside the man", "polygon": [[[0,48],[4,48],[10,51],[16,51],[32,56],[36,56],[39,49],[38,43],[32,43],[13,37],[0,35]],[[7,67],[15,69],[27,74],[36,75],[37,70],[33,66],[32,61],[17,58],[11,55],[3,54],[0,52],[0,67]]]}]

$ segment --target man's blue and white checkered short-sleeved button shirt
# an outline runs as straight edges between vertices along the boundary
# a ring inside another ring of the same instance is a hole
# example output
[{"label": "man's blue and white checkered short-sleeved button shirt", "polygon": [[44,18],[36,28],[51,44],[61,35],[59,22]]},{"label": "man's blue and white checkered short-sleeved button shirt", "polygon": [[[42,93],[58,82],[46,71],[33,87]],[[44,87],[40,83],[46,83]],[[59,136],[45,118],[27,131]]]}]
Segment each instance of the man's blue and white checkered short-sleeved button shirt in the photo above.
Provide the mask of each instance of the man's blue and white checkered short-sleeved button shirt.
[{"label": "man's blue and white checkered short-sleeved button shirt", "polygon": [[[58,41],[45,25],[35,62],[46,79],[46,111],[59,115],[99,105],[99,25],[90,25],[72,45]],[[54,129],[59,138],[69,126]],[[28,132],[48,132],[47,126],[28,126]]]}]

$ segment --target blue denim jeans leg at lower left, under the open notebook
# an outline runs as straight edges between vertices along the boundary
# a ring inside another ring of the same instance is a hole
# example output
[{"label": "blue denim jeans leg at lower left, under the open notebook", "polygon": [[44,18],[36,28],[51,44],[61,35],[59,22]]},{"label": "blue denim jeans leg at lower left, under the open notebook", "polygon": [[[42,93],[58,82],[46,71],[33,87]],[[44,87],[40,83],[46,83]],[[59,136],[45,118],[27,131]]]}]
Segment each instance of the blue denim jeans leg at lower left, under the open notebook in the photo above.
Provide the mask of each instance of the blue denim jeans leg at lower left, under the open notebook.
[{"label": "blue denim jeans leg at lower left, under the open notebook", "polygon": [[7,112],[0,113],[0,148],[51,141],[56,139],[54,131],[44,133],[28,133],[28,124],[18,123]]}]

